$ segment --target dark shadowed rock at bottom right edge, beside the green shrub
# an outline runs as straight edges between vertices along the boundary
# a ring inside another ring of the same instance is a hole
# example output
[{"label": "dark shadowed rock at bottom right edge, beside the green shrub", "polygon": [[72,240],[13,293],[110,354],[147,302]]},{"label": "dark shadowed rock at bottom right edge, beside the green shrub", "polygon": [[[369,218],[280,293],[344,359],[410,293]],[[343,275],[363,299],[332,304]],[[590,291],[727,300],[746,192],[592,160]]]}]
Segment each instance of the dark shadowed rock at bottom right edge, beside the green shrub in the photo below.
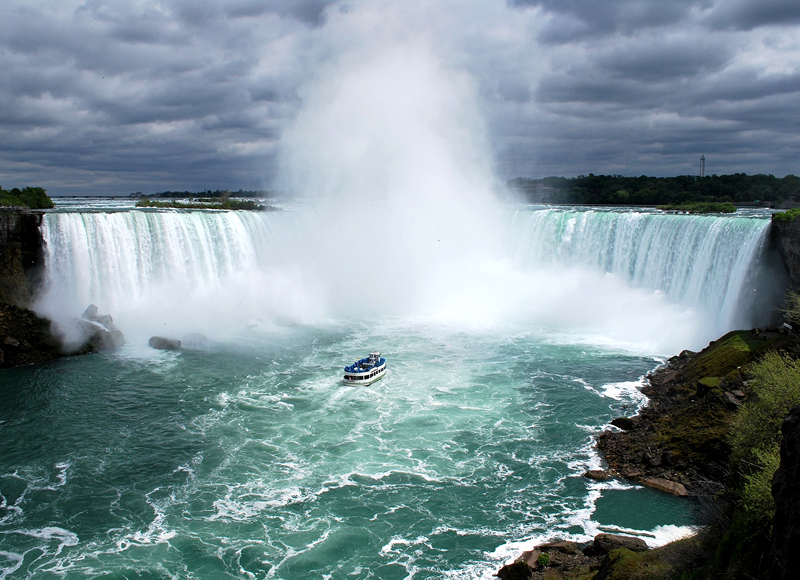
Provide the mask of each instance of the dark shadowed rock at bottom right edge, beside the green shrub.
[{"label": "dark shadowed rock at bottom right edge, beside the green shrub", "polygon": [[800,570],[800,406],[781,425],[781,463],[772,479],[771,578],[796,578]]}]

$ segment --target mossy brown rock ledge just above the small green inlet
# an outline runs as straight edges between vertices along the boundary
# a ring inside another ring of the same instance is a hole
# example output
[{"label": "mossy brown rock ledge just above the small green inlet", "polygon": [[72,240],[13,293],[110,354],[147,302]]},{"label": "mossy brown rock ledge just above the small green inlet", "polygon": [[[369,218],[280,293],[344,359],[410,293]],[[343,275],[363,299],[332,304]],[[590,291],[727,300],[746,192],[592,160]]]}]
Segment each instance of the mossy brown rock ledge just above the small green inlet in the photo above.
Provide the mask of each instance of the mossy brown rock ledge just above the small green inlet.
[{"label": "mossy brown rock ledge just above the small green inlet", "polygon": [[653,371],[643,389],[647,406],[597,437],[609,475],[676,495],[721,484],[730,455],[726,433],[749,396],[740,367],[793,341],[777,329],[734,331]]}]

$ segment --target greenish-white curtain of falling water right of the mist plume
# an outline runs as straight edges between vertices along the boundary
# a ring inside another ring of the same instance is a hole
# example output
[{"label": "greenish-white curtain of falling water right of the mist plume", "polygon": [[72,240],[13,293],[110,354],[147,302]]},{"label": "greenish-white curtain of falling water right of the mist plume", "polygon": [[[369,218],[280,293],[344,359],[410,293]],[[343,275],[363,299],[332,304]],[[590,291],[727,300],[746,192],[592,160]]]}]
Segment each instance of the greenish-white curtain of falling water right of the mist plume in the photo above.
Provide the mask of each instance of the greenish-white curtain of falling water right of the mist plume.
[{"label": "greenish-white curtain of falling water right of the mist plume", "polygon": [[[523,263],[589,266],[712,315],[713,331],[754,322],[741,303],[756,291],[769,222],[762,218],[640,211],[518,211],[511,232]],[[757,318],[757,317],[756,317]]]}]

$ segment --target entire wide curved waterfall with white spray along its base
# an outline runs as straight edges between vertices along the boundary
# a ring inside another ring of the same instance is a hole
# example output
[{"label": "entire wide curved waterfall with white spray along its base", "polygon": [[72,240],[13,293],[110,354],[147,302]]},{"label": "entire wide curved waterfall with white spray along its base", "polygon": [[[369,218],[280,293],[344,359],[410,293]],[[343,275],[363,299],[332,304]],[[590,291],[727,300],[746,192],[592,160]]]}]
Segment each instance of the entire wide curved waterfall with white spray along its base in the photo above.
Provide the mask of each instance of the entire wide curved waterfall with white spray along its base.
[{"label": "entire wide curved waterfall with white spray along its base", "polygon": [[746,302],[764,218],[519,209],[505,214],[507,245],[490,259],[438,244],[424,259],[386,250],[392,236],[380,237],[379,221],[375,256],[347,256],[329,217],[309,208],[51,213],[37,309],[66,328],[95,303],[145,338],[342,316],[514,321],[664,353],[758,322]]}]

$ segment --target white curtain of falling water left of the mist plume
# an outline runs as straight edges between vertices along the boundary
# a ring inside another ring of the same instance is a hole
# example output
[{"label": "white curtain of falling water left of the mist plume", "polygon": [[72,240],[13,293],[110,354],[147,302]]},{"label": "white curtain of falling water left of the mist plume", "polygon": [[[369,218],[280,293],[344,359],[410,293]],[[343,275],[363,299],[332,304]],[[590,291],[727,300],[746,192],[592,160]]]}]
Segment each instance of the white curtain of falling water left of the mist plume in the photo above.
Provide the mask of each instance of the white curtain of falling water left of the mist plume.
[{"label": "white curtain of falling water left of the mist plume", "polygon": [[313,310],[296,303],[293,287],[303,282],[278,265],[298,220],[293,212],[48,213],[35,307],[58,323],[94,303],[126,334],[214,332],[286,310],[302,316]]}]

